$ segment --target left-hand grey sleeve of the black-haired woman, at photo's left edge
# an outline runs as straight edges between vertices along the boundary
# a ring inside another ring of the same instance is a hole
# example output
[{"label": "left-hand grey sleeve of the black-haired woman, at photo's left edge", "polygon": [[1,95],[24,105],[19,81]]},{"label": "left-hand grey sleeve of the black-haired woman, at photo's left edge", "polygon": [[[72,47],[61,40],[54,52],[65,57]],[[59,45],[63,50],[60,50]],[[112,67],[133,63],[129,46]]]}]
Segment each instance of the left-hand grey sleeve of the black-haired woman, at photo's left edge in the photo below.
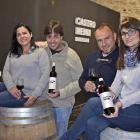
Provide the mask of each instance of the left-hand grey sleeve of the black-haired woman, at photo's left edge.
[{"label": "left-hand grey sleeve of the black-haired woman, at photo's left edge", "polygon": [[2,75],[3,82],[8,90],[10,90],[12,87],[15,86],[13,83],[11,74],[10,74],[10,65],[11,65],[10,59],[11,58],[8,55],[6,58],[6,62],[5,62],[4,68],[3,68],[3,75]]}]

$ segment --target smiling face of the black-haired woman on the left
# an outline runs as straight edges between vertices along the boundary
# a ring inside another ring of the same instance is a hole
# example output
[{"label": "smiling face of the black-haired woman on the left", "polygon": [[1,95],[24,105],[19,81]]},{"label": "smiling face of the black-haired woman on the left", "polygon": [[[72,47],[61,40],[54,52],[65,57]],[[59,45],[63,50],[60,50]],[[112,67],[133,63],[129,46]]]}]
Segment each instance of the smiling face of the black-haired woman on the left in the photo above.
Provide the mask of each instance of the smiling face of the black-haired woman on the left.
[{"label": "smiling face of the black-haired woman on the left", "polygon": [[31,37],[32,33],[30,34],[29,31],[23,26],[19,27],[16,31],[17,41],[22,47],[30,47]]}]

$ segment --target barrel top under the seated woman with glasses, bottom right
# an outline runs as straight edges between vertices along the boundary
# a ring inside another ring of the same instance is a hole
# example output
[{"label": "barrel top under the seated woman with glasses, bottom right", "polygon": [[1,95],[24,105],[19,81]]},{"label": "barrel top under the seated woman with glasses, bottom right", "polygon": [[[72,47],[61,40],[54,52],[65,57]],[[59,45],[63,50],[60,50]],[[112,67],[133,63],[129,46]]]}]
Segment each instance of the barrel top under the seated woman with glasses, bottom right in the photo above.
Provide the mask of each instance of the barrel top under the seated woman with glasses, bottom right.
[{"label": "barrel top under the seated woman with glasses, bottom right", "polygon": [[101,133],[101,140],[140,140],[140,132],[128,132],[119,128],[106,128]]}]

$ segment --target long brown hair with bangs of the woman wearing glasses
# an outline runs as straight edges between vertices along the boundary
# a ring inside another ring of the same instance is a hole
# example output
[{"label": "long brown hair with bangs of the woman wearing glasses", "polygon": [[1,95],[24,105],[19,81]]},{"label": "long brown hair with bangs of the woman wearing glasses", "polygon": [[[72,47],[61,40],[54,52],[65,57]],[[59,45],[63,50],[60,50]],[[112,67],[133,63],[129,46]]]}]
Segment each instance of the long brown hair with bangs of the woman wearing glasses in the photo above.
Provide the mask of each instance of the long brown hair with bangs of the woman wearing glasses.
[{"label": "long brown hair with bangs of the woman wearing glasses", "polygon": [[[119,45],[119,58],[117,61],[117,69],[124,69],[124,54],[126,52],[126,50],[129,49],[129,47],[127,47],[121,37],[121,30],[122,28],[126,28],[126,29],[135,29],[139,32],[140,34],[140,21],[136,18],[133,17],[127,17],[125,18],[121,24],[119,25],[119,39],[120,39],[120,45]],[[140,44],[138,46],[138,51],[136,53],[136,57],[138,59],[138,62],[140,62]]]}]

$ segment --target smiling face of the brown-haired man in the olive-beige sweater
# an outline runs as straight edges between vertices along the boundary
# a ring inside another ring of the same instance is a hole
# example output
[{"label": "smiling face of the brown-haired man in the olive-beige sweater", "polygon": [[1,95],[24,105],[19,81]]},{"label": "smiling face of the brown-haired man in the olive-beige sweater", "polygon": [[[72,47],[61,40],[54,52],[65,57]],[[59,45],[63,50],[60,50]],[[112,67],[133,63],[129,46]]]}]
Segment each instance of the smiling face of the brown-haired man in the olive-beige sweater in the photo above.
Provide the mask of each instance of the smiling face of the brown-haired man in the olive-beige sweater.
[{"label": "smiling face of the brown-haired man in the olive-beige sweater", "polygon": [[46,35],[46,40],[49,47],[55,51],[60,51],[64,48],[64,45],[62,44],[62,38],[63,36],[60,36],[59,33],[55,33],[54,31],[52,31],[51,34]]}]

